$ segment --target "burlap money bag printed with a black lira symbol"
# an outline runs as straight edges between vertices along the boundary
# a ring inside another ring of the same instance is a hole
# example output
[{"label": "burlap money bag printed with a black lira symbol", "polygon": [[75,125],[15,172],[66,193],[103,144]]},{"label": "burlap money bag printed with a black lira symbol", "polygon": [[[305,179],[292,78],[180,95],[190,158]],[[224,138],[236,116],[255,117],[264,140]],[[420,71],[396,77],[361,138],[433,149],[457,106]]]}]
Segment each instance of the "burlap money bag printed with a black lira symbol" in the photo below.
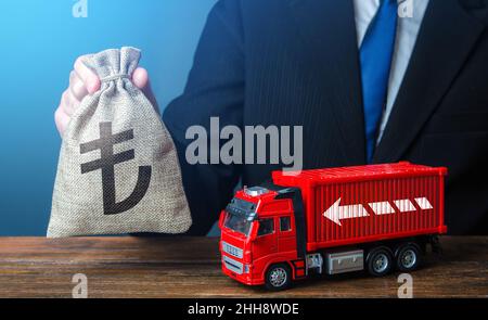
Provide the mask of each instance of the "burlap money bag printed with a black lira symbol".
[{"label": "burlap money bag printed with a black lira symbol", "polygon": [[139,59],[134,48],[82,57],[102,86],[81,101],[64,132],[48,236],[190,228],[175,144],[130,80]]}]

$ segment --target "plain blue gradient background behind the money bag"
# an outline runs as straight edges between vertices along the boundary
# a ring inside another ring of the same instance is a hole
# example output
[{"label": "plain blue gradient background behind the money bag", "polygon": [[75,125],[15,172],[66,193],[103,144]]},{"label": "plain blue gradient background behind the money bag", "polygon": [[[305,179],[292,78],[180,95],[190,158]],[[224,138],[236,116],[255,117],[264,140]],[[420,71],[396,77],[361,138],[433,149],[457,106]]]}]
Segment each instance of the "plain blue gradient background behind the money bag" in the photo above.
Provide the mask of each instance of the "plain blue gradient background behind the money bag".
[{"label": "plain blue gradient background behind the money bag", "polygon": [[2,1],[0,5],[0,235],[44,235],[61,139],[53,114],[78,55],[142,49],[163,108],[181,93],[216,0]]}]

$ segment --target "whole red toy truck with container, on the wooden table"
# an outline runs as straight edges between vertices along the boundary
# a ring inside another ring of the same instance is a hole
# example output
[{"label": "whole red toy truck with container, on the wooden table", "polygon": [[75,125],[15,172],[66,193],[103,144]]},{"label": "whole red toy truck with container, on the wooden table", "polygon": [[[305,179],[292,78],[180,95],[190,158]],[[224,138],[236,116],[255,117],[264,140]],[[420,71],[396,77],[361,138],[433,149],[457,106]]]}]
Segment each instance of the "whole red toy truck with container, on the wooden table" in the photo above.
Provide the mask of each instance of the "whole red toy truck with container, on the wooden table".
[{"label": "whole red toy truck with container, on the wooden table", "polygon": [[444,225],[447,169],[398,164],[274,171],[222,210],[222,270],[248,285],[287,287],[310,274],[414,270]]}]

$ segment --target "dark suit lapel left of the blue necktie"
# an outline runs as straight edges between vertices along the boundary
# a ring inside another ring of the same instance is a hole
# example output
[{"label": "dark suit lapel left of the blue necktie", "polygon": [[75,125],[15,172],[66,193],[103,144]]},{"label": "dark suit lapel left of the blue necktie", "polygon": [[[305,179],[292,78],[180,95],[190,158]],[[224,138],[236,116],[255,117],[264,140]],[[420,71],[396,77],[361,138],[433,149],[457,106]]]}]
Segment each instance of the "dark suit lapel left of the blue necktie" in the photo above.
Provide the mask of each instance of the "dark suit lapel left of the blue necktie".
[{"label": "dark suit lapel left of the blue necktie", "polygon": [[351,0],[288,0],[290,12],[314,61],[346,164],[365,161],[364,118]]}]

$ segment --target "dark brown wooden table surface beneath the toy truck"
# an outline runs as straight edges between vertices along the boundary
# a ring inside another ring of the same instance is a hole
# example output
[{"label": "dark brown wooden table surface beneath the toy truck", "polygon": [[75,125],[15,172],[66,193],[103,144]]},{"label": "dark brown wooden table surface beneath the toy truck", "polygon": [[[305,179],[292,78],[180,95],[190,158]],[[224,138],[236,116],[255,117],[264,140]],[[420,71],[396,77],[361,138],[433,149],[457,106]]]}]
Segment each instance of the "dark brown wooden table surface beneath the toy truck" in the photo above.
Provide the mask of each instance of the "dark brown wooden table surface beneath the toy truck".
[{"label": "dark brown wooden table surface beneath the toy truck", "polygon": [[[441,239],[412,272],[414,297],[488,297],[488,238]],[[75,273],[89,297],[396,297],[397,277],[363,272],[270,293],[222,276],[211,238],[0,238],[0,297],[72,297]]]}]

